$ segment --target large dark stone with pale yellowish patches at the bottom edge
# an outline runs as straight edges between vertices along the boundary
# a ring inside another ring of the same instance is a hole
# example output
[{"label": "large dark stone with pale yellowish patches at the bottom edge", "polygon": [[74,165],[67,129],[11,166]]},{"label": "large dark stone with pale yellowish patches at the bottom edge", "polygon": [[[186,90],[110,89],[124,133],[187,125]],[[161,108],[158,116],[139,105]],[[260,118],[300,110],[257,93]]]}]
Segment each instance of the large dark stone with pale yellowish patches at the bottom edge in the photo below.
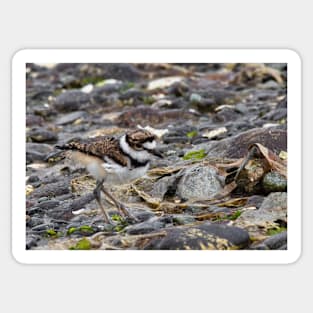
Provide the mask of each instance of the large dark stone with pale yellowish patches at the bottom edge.
[{"label": "large dark stone with pale yellowish patches at the bottom edge", "polygon": [[203,223],[197,226],[166,228],[166,236],[150,240],[145,250],[227,250],[245,248],[247,231],[222,224]]}]

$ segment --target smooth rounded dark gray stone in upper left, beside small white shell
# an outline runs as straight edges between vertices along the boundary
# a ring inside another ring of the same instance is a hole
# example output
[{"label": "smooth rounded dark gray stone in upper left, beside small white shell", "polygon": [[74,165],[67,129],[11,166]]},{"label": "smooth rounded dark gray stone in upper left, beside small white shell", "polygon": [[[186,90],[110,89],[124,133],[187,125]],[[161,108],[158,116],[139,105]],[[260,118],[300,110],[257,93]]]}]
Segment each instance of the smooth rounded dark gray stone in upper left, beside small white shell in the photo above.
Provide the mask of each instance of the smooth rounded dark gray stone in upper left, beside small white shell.
[{"label": "smooth rounded dark gray stone in upper left, beside small white shell", "polygon": [[89,102],[89,97],[82,91],[68,90],[55,98],[54,107],[60,112],[76,111]]}]

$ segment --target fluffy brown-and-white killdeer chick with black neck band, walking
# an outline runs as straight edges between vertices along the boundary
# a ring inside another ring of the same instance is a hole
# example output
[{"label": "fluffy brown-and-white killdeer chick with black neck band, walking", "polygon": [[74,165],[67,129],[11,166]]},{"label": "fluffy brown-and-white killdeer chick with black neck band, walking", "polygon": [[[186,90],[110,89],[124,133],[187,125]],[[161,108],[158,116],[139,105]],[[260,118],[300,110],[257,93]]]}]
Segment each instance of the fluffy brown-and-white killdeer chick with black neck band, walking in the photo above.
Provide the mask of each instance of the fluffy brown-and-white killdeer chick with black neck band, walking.
[{"label": "fluffy brown-and-white killdeer chick with black neck band, walking", "polygon": [[85,140],[74,140],[56,147],[70,150],[70,158],[74,162],[84,165],[96,179],[94,195],[106,223],[111,223],[111,221],[101,203],[101,191],[113,201],[123,216],[135,219],[126,206],[112,196],[108,187],[114,184],[124,184],[143,176],[149,168],[152,155],[162,157],[155,150],[156,137],[153,134],[147,130],[139,129],[129,131],[120,138],[99,136]]}]

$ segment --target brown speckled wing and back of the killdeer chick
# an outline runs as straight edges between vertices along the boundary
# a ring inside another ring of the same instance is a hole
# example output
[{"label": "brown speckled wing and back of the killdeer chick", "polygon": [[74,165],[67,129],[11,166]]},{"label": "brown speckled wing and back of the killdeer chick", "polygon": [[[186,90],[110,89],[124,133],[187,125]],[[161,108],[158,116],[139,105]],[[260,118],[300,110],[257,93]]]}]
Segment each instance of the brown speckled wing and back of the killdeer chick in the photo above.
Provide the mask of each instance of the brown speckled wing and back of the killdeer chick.
[{"label": "brown speckled wing and back of the killdeer chick", "polygon": [[58,146],[58,148],[64,150],[77,150],[89,155],[97,156],[102,160],[107,156],[114,162],[122,166],[127,166],[127,158],[120,149],[118,139],[113,137],[99,136],[84,140],[74,140],[63,146]]}]

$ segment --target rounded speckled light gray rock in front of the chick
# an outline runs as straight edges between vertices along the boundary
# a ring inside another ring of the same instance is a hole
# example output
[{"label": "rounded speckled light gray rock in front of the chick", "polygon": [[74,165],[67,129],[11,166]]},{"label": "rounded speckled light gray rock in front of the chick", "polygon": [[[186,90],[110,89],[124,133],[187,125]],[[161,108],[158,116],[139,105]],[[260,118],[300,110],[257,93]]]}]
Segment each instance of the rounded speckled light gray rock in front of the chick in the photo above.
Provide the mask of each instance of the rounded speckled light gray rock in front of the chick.
[{"label": "rounded speckled light gray rock in front of the chick", "polygon": [[195,165],[181,175],[176,192],[181,199],[210,199],[223,190],[223,177],[214,167]]}]

